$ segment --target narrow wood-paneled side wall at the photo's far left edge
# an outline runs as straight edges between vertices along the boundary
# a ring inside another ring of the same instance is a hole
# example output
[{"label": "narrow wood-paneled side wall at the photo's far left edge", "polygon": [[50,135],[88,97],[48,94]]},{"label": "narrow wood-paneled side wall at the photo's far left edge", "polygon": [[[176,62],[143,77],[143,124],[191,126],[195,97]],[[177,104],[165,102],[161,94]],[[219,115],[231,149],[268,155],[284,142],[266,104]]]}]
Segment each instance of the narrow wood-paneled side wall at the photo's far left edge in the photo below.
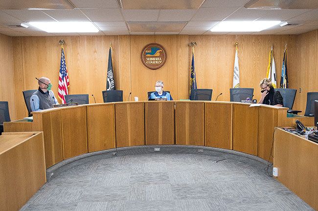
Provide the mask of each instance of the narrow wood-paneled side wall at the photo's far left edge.
[{"label": "narrow wood-paneled side wall at the photo's far left edge", "polygon": [[16,119],[15,83],[12,58],[12,38],[0,34],[0,101],[8,101],[11,119]]}]

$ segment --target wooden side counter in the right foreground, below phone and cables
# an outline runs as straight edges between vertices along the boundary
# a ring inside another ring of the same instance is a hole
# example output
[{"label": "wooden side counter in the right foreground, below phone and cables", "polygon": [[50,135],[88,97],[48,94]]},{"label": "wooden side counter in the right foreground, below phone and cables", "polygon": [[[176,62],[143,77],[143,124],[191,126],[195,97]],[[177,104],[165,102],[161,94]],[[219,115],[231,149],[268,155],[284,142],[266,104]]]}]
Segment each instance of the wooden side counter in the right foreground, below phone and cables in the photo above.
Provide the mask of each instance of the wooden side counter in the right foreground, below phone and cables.
[{"label": "wooden side counter in the right foreground, below phone and cables", "polygon": [[318,144],[277,129],[274,134],[275,177],[288,189],[318,210]]}]

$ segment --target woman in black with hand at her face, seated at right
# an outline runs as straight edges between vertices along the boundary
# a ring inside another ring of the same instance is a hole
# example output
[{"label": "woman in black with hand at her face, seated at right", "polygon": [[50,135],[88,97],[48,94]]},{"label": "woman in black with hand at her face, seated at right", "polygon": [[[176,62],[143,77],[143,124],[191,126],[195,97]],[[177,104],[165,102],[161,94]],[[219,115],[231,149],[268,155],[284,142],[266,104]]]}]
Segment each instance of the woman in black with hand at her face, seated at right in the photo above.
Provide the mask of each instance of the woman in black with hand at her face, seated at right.
[{"label": "woman in black with hand at her face, seated at right", "polygon": [[274,89],[270,79],[264,78],[259,83],[259,86],[261,87],[262,96],[258,103],[281,107],[284,106],[282,95],[279,91]]}]

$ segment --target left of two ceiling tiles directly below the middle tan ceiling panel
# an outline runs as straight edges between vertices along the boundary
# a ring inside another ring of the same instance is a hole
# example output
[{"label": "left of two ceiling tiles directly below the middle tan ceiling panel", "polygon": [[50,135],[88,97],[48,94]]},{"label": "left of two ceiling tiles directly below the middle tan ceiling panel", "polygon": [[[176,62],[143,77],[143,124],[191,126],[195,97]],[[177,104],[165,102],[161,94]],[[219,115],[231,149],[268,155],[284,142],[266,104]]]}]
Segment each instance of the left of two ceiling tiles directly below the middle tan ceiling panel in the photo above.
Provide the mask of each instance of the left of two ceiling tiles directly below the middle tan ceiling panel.
[{"label": "left of two ceiling tiles directly below the middle tan ceiling panel", "polygon": [[126,21],[157,21],[159,10],[122,10]]}]

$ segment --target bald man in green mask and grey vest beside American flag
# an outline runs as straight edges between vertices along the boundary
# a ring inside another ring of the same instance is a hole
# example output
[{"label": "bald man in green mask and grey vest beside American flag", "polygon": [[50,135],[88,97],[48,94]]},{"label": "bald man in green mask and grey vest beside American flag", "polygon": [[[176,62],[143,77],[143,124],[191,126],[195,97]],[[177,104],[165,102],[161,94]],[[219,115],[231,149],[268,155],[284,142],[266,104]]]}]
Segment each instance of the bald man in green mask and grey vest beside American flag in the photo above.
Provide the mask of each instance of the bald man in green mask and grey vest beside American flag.
[{"label": "bald man in green mask and grey vest beside American flag", "polygon": [[33,93],[30,98],[31,110],[41,111],[44,109],[53,108],[54,104],[59,104],[51,90],[52,84],[49,78],[40,77],[37,79],[39,83],[39,89]]}]

